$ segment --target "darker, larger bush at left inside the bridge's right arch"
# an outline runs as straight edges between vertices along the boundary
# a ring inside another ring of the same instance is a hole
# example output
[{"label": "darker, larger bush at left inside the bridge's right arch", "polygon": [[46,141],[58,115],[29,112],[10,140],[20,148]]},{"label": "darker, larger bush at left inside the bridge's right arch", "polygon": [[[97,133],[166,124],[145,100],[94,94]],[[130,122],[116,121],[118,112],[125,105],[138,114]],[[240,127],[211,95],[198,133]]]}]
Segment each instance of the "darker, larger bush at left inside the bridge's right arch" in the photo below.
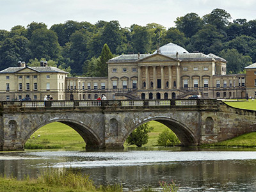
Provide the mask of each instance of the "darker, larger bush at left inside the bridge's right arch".
[{"label": "darker, larger bush at left inside the bridge's right arch", "polygon": [[128,145],[136,145],[141,147],[148,143],[148,133],[151,132],[154,128],[150,127],[148,123],[140,125],[137,127],[127,138]]}]

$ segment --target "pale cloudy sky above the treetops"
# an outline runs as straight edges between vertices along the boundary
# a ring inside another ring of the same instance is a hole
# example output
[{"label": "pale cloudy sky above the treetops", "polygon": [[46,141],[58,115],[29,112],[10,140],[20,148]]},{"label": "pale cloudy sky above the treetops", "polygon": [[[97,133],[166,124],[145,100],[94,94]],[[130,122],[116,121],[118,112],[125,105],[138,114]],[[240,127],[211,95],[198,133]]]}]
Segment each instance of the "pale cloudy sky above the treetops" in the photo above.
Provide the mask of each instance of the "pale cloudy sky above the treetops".
[{"label": "pale cloudy sky above the treetops", "polygon": [[48,28],[67,20],[118,20],[122,28],[156,22],[166,29],[177,17],[197,13],[200,17],[221,8],[232,19],[256,19],[255,0],[0,0],[0,29],[44,22]]}]

